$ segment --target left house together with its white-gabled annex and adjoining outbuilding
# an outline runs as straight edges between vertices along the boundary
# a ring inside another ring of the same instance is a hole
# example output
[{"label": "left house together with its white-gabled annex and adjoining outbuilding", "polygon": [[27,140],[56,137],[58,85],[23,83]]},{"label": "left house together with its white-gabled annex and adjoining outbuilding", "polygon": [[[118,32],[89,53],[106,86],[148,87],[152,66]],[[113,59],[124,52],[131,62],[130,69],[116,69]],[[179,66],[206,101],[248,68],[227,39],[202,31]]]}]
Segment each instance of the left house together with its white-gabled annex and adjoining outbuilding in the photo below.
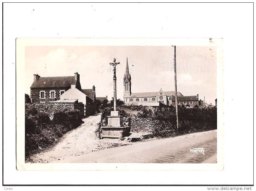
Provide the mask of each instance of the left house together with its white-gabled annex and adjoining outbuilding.
[{"label": "left house together with its white-gabled annex and adjoining outbuilding", "polygon": [[80,75],[74,76],[40,77],[34,75],[34,81],[30,87],[32,103],[58,102],[60,99],[77,99],[84,104],[84,115],[94,113],[96,100],[95,86],[92,89],[82,89]]}]

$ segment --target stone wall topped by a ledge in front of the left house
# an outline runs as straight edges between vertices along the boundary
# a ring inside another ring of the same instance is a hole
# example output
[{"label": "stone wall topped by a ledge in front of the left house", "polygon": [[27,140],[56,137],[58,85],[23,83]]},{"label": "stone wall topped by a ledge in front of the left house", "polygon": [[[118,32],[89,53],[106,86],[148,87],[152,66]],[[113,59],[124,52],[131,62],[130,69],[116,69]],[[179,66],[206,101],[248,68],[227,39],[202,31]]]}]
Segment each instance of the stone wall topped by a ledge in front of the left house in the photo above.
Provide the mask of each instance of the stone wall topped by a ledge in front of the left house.
[{"label": "stone wall topped by a ledge in front of the left house", "polygon": [[84,104],[82,103],[25,103],[25,110],[36,108],[38,111],[48,113],[50,119],[56,111],[75,110],[78,109],[80,116],[84,116]]}]

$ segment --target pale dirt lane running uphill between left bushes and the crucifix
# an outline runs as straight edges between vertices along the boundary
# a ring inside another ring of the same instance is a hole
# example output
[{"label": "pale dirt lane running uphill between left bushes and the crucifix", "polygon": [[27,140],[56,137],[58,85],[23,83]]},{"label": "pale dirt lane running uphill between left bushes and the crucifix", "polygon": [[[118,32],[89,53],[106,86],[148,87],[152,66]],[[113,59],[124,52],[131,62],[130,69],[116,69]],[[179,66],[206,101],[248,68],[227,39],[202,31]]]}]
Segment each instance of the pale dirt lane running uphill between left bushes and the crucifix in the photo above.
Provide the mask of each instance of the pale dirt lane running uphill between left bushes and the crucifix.
[{"label": "pale dirt lane running uphill between left bushes and the crucifix", "polygon": [[96,139],[94,133],[100,114],[95,114],[83,119],[84,123],[64,134],[61,141],[53,148],[30,156],[29,163],[55,163],[66,161],[70,157],[78,157],[100,149],[129,145],[131,143],[117,139]]}]

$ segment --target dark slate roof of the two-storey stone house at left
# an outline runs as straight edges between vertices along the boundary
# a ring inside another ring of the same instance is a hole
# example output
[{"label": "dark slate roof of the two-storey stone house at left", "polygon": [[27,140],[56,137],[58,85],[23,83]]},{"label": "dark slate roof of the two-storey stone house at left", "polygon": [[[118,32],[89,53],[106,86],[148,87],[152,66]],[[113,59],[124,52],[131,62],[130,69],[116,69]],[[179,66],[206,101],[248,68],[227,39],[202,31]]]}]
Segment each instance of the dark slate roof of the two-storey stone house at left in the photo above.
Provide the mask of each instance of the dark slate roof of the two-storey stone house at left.
[{"label": "dark slate roof of the two-storey stone house at left", "polygon": [[32,83],[30,88],[70,87],[72,83],[76,83],[75,76],[39,77],[37,81]]}]

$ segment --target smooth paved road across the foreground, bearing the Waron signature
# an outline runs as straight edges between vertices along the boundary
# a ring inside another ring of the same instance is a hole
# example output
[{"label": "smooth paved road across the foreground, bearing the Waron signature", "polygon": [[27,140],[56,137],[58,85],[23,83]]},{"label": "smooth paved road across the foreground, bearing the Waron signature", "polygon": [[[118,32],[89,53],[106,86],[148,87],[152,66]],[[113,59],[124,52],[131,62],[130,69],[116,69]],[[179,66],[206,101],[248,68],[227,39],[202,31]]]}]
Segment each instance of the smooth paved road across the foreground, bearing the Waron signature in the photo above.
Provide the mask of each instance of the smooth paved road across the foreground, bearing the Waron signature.
[{"label": "smooth paved road across the foreground, bearing the Waron signature", "polygon": [[[204,153],[191,153],[189,148],[204,148]],[[57,161],[58,162],[58,161]],[[137,142],[70,156],[59,162],[69,163],[216,163],[217,130],[183,136]]]}]

